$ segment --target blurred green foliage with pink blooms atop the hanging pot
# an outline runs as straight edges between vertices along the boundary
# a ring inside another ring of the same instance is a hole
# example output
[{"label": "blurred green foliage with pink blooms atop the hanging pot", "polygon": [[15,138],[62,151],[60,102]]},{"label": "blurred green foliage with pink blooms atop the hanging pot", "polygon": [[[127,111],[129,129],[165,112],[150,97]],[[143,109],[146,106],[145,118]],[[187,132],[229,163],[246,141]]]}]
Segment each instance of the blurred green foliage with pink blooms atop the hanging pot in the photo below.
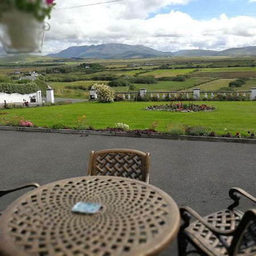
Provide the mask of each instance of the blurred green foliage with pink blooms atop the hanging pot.
[{"label": "blurred green foliage with pink blooms atop the hanging pot", "polygon": [[9,10],[19,10],[24,13],[31,13],[40,22],[44,18],[50,18],[54,0],[2,0],[0,5],[0,15]]}]

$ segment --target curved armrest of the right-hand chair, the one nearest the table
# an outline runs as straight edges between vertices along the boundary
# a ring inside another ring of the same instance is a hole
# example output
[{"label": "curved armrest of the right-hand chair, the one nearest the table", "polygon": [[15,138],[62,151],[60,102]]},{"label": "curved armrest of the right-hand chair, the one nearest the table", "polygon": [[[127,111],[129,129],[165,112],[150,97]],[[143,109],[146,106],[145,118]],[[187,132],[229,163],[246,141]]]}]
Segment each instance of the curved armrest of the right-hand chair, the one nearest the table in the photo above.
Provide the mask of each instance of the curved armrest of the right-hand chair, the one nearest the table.
[{"label": "curved armrest of the right-hand chair, the one nearest the table", "polygon": [[[203,217],[201,217],[199,215],[199,213],[197,213],[195,210],[193,210],[190,207],[180,208],[181,218],[183,218],[185,212],[189,213],[190,216],[193,216],[194,218],[196,218],[196,220],[200,221],[204,226],[206,226],[216,236],[232,236],[235,231],[235,230],[229,230],[229,231],[221,230],[221,229],[215,228],[214,226],[209,224],[209,222],[207,222]],[[186,220],[188,220],[187,216],[185,217],[185,221]]]}]

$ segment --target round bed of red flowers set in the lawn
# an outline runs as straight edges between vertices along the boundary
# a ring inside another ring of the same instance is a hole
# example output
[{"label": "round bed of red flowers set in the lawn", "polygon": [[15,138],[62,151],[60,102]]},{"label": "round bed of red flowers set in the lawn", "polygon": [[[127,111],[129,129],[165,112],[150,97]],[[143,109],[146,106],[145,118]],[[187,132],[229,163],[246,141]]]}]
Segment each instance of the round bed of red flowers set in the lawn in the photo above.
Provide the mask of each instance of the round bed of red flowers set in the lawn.
[{"label": "round bed of red flowers set in the lawn", "polygon": [[163,110],[163,111],[174,111],[174,112],[198,112],[198,111],[212,111],[215,108],[213,106],[207,106],[205,104],[195,105],[193,103],[183,104],[171,102],[166,105],[153,105],[148,106],[147,110]]}]

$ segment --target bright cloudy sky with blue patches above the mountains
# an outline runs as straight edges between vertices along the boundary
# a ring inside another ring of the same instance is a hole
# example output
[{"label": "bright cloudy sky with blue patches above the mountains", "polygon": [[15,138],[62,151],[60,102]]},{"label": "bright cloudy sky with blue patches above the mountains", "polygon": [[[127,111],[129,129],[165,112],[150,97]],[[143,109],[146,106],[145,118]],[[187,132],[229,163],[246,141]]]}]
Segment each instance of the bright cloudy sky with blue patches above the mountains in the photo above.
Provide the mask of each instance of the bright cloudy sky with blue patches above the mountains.
[{"label": "bright cloudy sky with blue patches above the mountains", "polygon": [[102,43],[159,51],[256,46],[256,0],[56,0],[44,53]]}]

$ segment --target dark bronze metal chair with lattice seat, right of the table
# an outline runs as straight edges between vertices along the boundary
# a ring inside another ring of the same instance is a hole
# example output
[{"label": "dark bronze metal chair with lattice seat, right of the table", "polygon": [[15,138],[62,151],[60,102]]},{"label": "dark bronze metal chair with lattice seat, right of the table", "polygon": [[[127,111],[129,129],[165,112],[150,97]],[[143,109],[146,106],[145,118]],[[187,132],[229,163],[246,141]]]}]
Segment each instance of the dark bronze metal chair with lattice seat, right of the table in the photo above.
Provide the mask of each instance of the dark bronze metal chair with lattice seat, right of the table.
[{"label": "dark bronze metal chair with lattice seat, right of the table", "polygon": [[[232,188],[229,196],[234,203],[226,210],[201,217],[190,207],[180,208],[184,224],[178,236],[179,255],[192,253],[187,251],[188,243],[200,255],[256,255],[256,209],[245,213],[234,209],[239,204],[240,195],[256,203],[249,193]],[[191,217],[196,221],[190,224]]]}]

